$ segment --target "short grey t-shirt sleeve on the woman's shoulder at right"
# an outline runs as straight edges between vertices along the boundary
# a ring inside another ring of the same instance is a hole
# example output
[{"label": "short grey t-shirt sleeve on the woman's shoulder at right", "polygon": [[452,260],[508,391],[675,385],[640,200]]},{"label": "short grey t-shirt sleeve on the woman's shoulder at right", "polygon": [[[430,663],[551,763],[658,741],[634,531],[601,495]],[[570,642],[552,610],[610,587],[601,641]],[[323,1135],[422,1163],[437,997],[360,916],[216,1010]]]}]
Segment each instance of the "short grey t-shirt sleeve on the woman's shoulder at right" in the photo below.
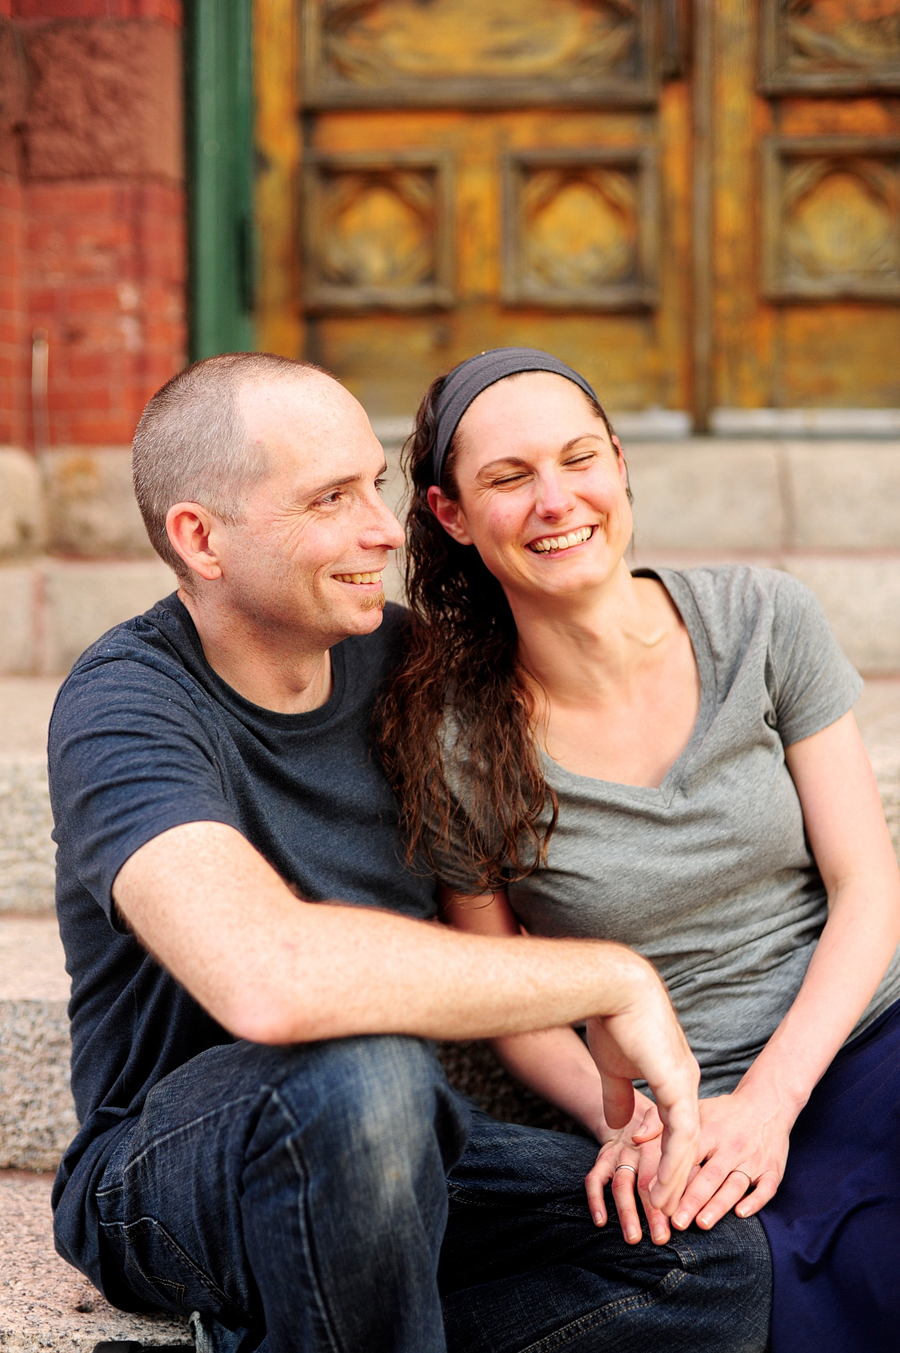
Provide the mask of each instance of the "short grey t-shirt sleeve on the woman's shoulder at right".
[{"label": "short grey t-shirt sleeve on the woman's shoulder at right", "polygon": [[862,678],[840,649],[805,583],[778,576],[770,641],[770,694],[785,747],[828,728],[859,698]]}]

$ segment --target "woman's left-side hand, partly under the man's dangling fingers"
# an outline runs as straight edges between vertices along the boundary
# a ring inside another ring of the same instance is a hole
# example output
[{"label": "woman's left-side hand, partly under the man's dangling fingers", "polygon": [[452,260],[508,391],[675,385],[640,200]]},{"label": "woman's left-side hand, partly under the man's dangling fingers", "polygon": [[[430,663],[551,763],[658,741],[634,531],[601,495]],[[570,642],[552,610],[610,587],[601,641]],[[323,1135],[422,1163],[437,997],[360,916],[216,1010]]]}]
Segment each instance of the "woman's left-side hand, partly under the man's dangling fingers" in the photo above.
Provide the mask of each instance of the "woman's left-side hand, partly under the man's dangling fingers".
[{"label": "woman's left-side hand, partly under the man's dangling fingers", "polygon": [[597,1226],[605,1226],[609,1219],[604,1189],[606,1184],[612,1184],[618,1224],[629,1245],[637,1245],[642,1237],[637,1199],[643,1204],[654,1243],[665,1245],[671,1234],[669,1218],[650,1201],[650,1188],[659,1169],[662,1131],[656,1105],[636,1091],[631,1122],[618,1131],[609,1131],[597,1164],[585,1180],[587,1204]]}]

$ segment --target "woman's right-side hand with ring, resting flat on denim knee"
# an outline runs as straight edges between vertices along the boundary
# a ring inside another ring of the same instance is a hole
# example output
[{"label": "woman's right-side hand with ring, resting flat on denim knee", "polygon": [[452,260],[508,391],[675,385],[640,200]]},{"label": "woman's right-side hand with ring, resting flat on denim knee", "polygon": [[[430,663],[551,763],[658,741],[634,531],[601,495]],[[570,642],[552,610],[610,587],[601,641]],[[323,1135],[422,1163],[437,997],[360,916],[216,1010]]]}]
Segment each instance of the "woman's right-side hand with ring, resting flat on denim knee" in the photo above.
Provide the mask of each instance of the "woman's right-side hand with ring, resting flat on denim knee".
[{"label": "woman's right-side hand with ring, resting flat on denim knee", "polygon": [[683,1231],[693,1220],[704,1231],[732,1208],[752,1216],[778,1191],[794,1112],[738,1086],[731,1095],[700,1101],[701,1161],[673,1214]]}]

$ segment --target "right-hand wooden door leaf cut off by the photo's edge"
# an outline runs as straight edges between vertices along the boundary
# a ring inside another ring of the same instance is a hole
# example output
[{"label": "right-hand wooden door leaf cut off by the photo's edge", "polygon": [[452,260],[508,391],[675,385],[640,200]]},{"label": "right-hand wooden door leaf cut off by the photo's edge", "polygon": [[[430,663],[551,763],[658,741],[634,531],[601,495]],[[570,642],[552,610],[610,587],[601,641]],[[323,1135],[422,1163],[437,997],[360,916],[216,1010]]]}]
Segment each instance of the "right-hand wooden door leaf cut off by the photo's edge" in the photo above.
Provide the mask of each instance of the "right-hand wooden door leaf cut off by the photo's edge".
[{"label": "right-hand wooden door leaf cut off by the photo's edge", "polygon": [[721,0],[712,22],[713,405],[897,406],[896,0]]}]

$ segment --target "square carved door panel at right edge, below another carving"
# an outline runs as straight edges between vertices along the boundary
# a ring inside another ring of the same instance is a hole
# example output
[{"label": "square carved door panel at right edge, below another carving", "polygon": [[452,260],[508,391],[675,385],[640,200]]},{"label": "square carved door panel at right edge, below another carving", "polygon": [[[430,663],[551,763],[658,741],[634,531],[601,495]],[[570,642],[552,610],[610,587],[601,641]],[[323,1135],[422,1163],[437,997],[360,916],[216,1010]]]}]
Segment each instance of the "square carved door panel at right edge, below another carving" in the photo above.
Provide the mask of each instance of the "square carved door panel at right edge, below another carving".
[{"label": "square carved door panel at right edge, below another carving", "polygon": [[766,294],[900,296],[900,138],[773,137],[763,156]]}]

